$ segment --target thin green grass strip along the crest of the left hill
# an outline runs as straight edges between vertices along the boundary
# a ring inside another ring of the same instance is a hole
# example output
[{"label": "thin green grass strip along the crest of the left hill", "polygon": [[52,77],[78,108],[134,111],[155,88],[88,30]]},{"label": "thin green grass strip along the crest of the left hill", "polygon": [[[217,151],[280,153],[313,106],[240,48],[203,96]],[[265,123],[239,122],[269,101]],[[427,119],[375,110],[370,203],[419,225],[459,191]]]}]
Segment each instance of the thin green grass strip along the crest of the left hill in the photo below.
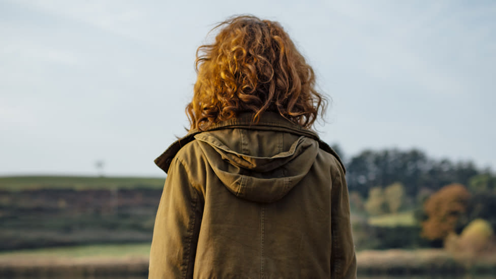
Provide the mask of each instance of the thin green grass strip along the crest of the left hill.
[{"label": "thin green grass strip along the crest of the left hill", "polygon": [[0,177],[0,191],[36,189],[161,189],[165,178],[95,176],[7,176]]}]

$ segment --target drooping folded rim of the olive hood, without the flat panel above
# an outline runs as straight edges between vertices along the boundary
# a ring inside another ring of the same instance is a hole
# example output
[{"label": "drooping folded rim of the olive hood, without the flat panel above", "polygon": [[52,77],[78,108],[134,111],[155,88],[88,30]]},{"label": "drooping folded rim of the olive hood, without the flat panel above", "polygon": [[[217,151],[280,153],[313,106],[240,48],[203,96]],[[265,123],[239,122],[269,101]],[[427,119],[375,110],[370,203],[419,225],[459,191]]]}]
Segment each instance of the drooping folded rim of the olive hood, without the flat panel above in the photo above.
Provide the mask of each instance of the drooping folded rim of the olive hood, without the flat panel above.
[{"label": "drooping folded rim of the olive hood, without the flat panel above", "polygon": [[208,162],[224,186],[236,197],[254,202],[283,198],[308,173],[319,146],[315,140],[299,137],[288,150],[270,157],[257,157],[232,150],[215,133],[195,136]]}]

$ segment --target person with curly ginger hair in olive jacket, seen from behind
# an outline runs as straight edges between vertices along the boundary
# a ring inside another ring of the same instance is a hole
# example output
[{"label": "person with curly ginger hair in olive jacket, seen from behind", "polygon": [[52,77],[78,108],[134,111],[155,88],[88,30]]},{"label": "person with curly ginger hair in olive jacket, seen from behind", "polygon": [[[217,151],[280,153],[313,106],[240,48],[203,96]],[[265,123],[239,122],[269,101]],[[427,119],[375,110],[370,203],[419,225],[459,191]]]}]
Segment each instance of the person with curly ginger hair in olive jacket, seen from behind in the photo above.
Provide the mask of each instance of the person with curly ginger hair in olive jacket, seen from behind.
[{"label": "person with curly ginger hair in olive jacket, seen from behind", "polygon": [[280,23],[232,17],[200,46],[149,278],[356,278],[345,167],[312,130],[327,104]]}]

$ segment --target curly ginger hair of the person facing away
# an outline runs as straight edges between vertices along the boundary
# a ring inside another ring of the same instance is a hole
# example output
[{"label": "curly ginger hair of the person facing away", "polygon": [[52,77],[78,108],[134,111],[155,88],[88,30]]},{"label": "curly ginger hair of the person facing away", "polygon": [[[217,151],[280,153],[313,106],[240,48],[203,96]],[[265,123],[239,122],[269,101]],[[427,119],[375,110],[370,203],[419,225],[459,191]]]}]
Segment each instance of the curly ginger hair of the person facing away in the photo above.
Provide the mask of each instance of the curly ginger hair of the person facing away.
[{"label": "curly ginger hair of the person facing away", "polygon": [[197,49],[197,81],[186,107],[190,131],[253,112],[257,122],[264,111],[278,112],[311,128],[327,99],[315,89],[315,74],[283,27],[255,16],[232,17],[213,44]]}]

